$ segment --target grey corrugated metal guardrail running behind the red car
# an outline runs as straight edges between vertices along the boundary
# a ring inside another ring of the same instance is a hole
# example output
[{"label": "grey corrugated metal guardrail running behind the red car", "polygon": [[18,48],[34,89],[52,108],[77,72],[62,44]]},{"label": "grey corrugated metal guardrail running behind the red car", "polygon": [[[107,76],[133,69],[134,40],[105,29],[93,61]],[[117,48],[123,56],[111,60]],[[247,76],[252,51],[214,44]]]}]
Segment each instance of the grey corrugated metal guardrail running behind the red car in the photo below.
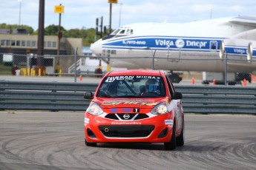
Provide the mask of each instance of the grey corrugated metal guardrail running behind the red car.
[{"label": "grey corrugated metal guardrail running behind the red car", "polygon": [[[0,81],[0,109],[85,111],[90,101],[86,91],[98,84]],[[256,115],[256,87],[176,85],[183,93],[185,113],[229,113]]]}]

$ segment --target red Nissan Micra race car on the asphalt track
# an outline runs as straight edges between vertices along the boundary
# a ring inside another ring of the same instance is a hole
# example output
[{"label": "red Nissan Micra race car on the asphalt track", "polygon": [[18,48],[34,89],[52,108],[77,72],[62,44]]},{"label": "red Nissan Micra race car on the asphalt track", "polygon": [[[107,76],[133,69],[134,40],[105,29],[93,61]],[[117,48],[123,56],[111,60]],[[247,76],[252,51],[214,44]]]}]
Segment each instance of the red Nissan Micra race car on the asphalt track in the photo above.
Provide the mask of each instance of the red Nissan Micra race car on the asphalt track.
[{"label": "red Nissan Micra race car on the asphalt track", "polygon": [[96,143],[164,143],[184,145],[182,94],[168,75],[156,70],[108,72],[85,112],[85,145]]}]

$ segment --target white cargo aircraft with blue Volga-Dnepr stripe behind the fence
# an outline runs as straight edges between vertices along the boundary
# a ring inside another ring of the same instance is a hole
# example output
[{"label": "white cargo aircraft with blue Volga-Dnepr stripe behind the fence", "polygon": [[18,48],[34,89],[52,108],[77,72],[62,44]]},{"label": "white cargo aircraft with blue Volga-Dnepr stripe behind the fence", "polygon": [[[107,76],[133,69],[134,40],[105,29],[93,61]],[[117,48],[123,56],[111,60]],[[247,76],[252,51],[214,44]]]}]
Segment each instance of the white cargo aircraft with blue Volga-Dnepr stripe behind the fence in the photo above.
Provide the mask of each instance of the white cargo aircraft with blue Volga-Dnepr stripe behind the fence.
[{"label": "white cargo aircraft with blue Volga-Dnepr stripe behind the fence", "polygon": [[91,44],[91,51],[111,67],[224,72],[228,65],[228,72],[256,73],[255,47],[256,17],[238,16],[128,24]]}]

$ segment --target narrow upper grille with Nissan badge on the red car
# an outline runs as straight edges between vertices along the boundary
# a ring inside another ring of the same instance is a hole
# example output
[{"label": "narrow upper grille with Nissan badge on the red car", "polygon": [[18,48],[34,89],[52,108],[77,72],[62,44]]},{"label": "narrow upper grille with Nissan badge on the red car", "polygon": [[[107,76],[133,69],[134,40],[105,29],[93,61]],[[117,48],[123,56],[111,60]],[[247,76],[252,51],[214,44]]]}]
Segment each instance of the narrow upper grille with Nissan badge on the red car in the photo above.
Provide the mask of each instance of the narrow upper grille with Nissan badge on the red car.
[{"label": "narrow upper grille with Nissan badge on the red car", "polygon": [[113,120],[140,120],[148,118],[148,115],[145,114],[134,114],[134,113],[116,113],[116,114],[108,114],[105,116],[105,118],[113,119]]}]

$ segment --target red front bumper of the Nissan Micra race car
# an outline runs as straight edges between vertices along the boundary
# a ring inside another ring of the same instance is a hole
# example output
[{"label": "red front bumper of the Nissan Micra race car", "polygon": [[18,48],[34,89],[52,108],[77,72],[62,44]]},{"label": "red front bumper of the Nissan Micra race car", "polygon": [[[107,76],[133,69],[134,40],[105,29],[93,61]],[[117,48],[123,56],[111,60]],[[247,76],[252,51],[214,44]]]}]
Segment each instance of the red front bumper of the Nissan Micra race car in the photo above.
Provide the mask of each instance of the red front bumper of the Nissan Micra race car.
[{"label": "red front bumper of the Nissan Micra race car", "polygon": [[165,143],[172,127],[171,112],[142,120],[111,120],[85,112],[85,138],[90,143]]}]

